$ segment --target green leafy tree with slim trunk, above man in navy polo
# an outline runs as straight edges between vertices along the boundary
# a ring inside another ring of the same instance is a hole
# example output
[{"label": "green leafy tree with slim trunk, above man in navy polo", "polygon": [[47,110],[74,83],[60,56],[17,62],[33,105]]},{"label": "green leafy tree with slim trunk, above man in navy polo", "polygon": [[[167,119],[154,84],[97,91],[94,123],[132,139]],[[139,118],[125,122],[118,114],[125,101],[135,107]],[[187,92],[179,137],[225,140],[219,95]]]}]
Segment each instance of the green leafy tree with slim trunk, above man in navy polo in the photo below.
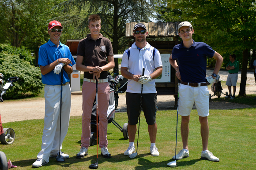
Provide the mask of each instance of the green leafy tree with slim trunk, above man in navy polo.
[{"label": "green leafy tree with slim trunk, above man in navy polo", "polygon": [[[245,94],[249,49],[256,49],[255,0],[168,0],[165,21],[189,21],[195,40],[220,53],[242,51],[240,96]],[[161,10],[160,10],[161,11]]]}]

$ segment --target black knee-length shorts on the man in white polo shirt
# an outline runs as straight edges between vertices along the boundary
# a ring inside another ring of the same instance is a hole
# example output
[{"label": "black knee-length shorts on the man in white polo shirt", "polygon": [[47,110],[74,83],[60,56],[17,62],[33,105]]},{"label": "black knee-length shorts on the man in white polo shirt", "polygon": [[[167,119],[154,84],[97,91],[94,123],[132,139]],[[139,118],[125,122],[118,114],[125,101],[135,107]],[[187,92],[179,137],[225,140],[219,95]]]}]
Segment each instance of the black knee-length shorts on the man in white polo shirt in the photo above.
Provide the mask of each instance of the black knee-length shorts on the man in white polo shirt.
[{"label": "black knee-length shorts on the man in white polo shirt", "polygon": [[[139,93],[126,93],[126,106],[129,125],[136,125],[139,120],[140,111]],[[142,94],[142,109],[148,125],[156,123],[156,99],[157,93]]]}]

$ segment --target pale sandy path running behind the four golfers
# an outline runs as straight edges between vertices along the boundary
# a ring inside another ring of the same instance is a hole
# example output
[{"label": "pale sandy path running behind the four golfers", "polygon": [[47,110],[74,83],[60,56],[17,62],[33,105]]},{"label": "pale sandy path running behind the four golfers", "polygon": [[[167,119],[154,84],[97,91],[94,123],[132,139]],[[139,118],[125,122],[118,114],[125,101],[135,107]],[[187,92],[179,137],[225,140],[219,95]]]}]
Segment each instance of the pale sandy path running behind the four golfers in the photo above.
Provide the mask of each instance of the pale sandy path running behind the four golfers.
[{"label": "pale sandy path running behind the four golfers", "polygon": [[[210,86],[209,86],[210,88]],[[211,90],[209,89],[210,93]],[[227,88],[223,89],[222,92],[225,94]],[[237,88],[237,93],[239,93],[239,88]],[[222,94],[221,97],[225,95]],[[246,86],[246,94],[256,94],[256,86],[248,85]],[[214,96],[212,98],[216,98]],[[231,100],[231,99],[230,99]],[[71,95],[71,116],[81,116],[82,115],[82,95]],[[31,101],[4,101],[0,103],[1,109],[1,119],[2,123],[28,120],[28,119],[44,119],[45,113],[45,100],[31,100]],[[157,100],[158,109],[167,110],[174,109],[174,97],[173,96],[158,96]],[[216,107],[218,105],[218,107]],[[237,109],[237,108],[247,108],[251,107],[248,105],[241,105],[231,102],[216,102],[210,101],[210,109]],[[126,112],[125,94],[119,94],[119,104],[118,108],[120,112]],[[195,106],[194,106],[194,109]]]}]

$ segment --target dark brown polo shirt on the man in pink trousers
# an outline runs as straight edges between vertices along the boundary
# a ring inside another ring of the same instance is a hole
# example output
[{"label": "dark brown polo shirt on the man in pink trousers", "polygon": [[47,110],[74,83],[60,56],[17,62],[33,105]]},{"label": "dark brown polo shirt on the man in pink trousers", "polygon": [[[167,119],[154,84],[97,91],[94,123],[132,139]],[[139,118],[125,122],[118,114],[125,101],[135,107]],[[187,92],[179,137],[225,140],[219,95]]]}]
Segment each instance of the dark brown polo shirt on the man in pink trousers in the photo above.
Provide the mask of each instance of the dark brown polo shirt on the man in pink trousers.
[{"label": "dark brown polo shirt on the man in pink trousers", "polygon": [[[100,37],[96,41],[90,38],[90,34],[87,35],[87,38],[80,40],[76,55],[83,56],[83,64],[86,66],[102,67],[108,63],[107,57],[114,54],[110,40],[100,33]],[[99,79],[106,79],[107,76],[107,71],[101,72]],[[83,77],[93,79],[93,74],[84,72]]]}]

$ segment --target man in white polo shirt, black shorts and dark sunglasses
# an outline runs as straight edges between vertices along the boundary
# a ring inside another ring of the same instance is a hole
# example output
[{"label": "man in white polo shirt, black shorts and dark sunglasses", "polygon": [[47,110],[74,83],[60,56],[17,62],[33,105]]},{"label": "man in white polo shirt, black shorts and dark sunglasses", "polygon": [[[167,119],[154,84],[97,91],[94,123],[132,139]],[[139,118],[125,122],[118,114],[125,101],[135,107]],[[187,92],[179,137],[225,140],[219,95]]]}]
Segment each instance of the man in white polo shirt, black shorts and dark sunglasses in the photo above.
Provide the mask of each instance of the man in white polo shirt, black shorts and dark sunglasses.
[{"label": "man in white polo shirt, black shorts and dark sunglasses", "polygon": [[[134,26],[133,36],[136,42],[132,47],[124,51],[121,74],[128,79],[126,90],[126,105],[128,115],[128,134],[130,145],[124,155],[135,153],[134,140],[137,131],[140,113],[140,96],[142,95],[142,108],[148,124],[148,133],[151,141],[150,152],[152,156],[159,156],[158,148],[155,146],[157,124],[156,124],[156,100],[155,78],[162,74],[162,61],[159,51],[146,41],[146,26],[138,23]],[[145,76],[142,70],[145,68]],[[143,94],[141,94],[143,85]]]}]

